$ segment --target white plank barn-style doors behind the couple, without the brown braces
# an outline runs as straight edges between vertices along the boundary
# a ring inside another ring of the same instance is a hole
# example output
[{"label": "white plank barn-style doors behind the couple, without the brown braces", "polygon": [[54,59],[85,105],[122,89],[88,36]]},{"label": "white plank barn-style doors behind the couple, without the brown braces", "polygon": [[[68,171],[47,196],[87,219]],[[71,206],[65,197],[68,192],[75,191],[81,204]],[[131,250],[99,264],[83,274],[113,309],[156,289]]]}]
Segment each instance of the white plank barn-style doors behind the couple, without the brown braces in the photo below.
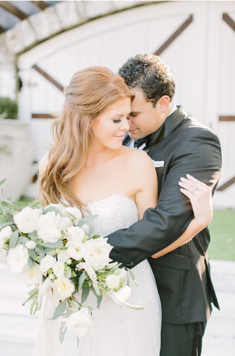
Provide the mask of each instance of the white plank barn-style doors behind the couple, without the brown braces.
[{"label": "white plank barn-style doors behind the couple, without the brown braces", "polygon": [[[192,14],[193,22],[161,57],[173,69],[175,103],[220,137],[220,184],[225,183],[235,176],[235,123],[219,122],[218,118],[235,115],[235,32],[222,20],[224,12],[235,20],[235,2],[169,1],[141,6],[88,22],[22,54],[18,58],[23,81],[18,95],[19,116],[30,123],[34,144],[51,141],[50,120],[31,119],[32,113],[58,112],[64,101],[63,93],[32,69],[34,64],[63,86],[84,67],[103,65],[116,72],[129,56],[154,53]],[[36,148],[34,159],[39,161],[44,152]],[[227,192],[230,197],[235,195],[235,185],[216,193],[215,205],[235,206],[235,199],[228,199]]]}]

